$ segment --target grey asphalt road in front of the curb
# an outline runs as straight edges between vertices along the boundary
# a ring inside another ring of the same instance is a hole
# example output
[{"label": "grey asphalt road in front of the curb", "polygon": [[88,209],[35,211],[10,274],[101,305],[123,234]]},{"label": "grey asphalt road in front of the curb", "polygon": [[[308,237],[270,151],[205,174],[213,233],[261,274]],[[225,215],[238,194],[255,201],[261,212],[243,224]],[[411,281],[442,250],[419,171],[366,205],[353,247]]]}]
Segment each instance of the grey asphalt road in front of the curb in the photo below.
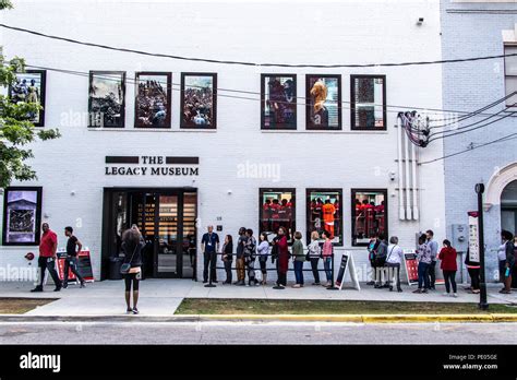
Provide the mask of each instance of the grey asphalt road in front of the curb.
[{"label": "grey asphalt road in front of the curb", "polygon": [[515,344],[515,323],[0,322],[0,344]]}]

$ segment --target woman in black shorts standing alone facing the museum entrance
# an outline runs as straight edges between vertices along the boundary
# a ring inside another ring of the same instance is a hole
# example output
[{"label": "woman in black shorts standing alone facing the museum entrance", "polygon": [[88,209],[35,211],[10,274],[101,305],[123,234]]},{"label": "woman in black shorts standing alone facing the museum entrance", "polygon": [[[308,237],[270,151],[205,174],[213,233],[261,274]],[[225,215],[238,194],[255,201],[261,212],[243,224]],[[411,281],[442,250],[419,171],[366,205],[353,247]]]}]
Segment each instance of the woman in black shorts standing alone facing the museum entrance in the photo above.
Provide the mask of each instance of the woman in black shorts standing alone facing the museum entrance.
[{"label": "woman in black shorts standing alone facing the museum entrance", "polygon": [[[142,248],[144,242],[136,226],[125,230],[122,235],[122,249],[124,261],[120,268],[120,273],[125,281],[125,305],[127,312],[139,313],[136,304],[139,302],[139,285],[142,278]],[[133,308],[131,308],[131,284],[133,284]]]}]

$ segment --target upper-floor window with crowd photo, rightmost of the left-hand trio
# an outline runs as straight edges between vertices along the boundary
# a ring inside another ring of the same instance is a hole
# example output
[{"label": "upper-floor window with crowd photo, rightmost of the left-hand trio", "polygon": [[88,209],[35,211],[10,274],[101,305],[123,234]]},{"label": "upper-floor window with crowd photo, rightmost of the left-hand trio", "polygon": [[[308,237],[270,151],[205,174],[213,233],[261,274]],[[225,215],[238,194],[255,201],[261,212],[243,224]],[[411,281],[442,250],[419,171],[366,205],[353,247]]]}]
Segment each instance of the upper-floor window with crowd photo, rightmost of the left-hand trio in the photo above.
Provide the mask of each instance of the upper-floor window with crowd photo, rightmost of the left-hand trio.
[{"label": "upper-floor window with crowd photo, rightmost of the left-hand trio", "polygon": [[181,74],[181,128],[215,129],[217,124],[217,74]]}]

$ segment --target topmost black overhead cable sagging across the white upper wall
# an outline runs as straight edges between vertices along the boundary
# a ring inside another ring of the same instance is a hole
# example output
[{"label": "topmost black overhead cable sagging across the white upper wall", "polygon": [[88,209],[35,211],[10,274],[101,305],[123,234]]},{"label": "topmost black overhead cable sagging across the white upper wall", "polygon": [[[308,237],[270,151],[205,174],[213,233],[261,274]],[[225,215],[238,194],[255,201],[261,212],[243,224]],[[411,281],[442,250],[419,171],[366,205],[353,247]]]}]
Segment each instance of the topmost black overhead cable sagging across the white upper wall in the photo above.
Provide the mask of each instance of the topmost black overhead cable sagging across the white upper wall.
[{"label": "topmost black overhead cable sagging across the white upper wall", "polygon": [[469,57],[469,58],[457,58],[457,59],[442,59],[442,60],[430,60],[430,61],[409,61],[409,62],[381,62],[381,63],[336,63],[336,64],[316,64],[316,63],[269,63],[269,62],[248,62],[248,61],[235,61],[235,60],[220,60],[220,59],[209,59],[209,58],[196,58],[196,57],[184,57],[176,56],[160,52],[151,52],[145,50],[136,50],[130,48],[113,47],[104,44],[96,43],[86,43],[79,39],[61,37],[45,34],[41,32],[31,31],[23,27],[11,26],[0,23],[0,27],[28,33],[35,36],[51,38],[56,40],[62,40],[70,44],[76,44],[82,46],[96,47],[100,49],[121,51],[121,52],[132,52],[141,56],[148,57],[158,57],[158,58],[170,58],[176,60],[183,61],[195,61],[195,62],[205,62],[205,63],[217,63],[217,64],[238,64],[238,66],[248,66],[248,67],[278,67],[278,68],[321,68],[321,69],[335,69],[335,68],[376,68],[376,67],[407,67],[407,66],[424,66],[424,64],[444,64],[444,63],[458,63],[458,62],[473,62],[491,59],[500,59],[505,57],[514,57],[517,54],[507,54],[507,55],[494,55],[494,56],[482,56],[482,57]]}]

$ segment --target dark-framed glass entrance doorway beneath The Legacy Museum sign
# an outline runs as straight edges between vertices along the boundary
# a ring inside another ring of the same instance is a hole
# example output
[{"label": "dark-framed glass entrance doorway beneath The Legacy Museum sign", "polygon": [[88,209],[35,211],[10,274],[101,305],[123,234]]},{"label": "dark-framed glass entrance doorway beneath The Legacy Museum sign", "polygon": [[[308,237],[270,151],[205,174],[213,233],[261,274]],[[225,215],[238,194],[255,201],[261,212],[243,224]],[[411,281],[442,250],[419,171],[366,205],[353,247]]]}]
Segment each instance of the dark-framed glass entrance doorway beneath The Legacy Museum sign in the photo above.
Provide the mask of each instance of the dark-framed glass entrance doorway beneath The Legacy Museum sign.
[{"label": "dark-framed glass entrance doorway beneath The Legacy Museum sign", "polygon": [[104,195],[103,280],[133,224],[145,240],[144,278],[195,277],[196,189],[105,189]]}]

